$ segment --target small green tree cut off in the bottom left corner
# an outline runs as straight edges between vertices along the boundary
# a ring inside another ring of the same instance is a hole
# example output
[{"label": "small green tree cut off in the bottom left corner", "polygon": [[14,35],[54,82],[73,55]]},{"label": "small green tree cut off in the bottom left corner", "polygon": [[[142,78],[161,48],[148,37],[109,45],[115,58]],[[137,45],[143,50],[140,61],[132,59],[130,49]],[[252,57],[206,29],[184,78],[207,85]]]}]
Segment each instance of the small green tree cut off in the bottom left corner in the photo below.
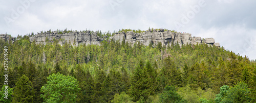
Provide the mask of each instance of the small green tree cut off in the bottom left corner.
[{"label": "small green tree cut off in the bottom left corner", "polygon": [[[12,101],[12,93],[13,93],[13,88],[10,88],[9,86],[6,88],[8,85],[3,85],[1,91],[0,91],[0,102],[11,102]],[[8,90],[6,90],[8,89]],[[7,96],[8,95],[8,96]]]}]

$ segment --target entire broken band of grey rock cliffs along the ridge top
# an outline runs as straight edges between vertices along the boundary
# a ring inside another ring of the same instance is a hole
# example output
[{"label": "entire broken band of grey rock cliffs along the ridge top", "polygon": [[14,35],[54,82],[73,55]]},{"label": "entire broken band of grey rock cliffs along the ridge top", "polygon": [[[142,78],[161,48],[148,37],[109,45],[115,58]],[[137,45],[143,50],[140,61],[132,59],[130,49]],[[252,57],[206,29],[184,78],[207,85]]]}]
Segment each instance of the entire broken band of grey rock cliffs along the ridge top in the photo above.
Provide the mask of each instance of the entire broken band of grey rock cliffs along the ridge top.
[{"label": "entire broken band of grey rock cliffs along the ridge top", "polygon": [[[35,42],[36,44],[42,43],[46,44],[47,42],[58,41],[60,45],[65,43],[71,43],[72,45],[78,46],[79,44],[86,45],[100,45],[100,42],[104,40],[104,38],[100,38],[97,36],[97,32],[90,32],[89,30],[86,32],[69,32],[63,34],[57,34],[56,32],[51,33],[39,33],[35,36],[30,36],[30,42]],[[14,42],[15,38],[12,38],[8,35],[0,35],[0,38],[3,38],[5,41],[11,40]],[[220,47],[219,43],[215,43],[213,38],[201,39],[201,37],[191,37],[190,33],[182,33],[182,32],[172,32],[172,31],[164,31],[164,29],[148,29],[145,32],[135,33],[133,31],[127,32],[116,32],[114,36],[110,37],[115,41],[120,40],[131,43],[132,45],[140,42],[145,46],[153,44],[161,43],[163,46],[167,46],[171,43],[178,43],[178,45],[183,44],[201,44],[205,43],[208,45],[215,45]]]}]

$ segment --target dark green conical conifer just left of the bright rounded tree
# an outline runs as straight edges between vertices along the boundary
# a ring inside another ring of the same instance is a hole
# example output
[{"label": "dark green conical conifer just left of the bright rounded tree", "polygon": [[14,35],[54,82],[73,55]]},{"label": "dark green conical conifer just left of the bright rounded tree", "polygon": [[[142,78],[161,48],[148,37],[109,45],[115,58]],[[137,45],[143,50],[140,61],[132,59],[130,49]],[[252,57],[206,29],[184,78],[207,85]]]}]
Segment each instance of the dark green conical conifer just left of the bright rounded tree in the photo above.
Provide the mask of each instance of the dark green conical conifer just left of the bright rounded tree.
[{"label": "dark green conical conifer just left of the bright rounded tree", "polygon": [[34,102],[34,93],[31,81],[23,75],[14,87],[12,102]]}]

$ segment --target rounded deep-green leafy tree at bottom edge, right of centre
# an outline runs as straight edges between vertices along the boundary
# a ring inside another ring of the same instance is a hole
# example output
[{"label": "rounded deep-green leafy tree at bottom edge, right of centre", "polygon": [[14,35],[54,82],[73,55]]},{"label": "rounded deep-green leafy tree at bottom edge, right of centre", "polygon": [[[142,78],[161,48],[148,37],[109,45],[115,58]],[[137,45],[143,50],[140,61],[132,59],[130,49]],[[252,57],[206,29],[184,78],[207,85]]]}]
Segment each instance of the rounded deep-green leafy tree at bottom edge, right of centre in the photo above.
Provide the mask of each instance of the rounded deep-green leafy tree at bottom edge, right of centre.
[{"label": "rounded deep-green leafy tree at bottom edge, right of centre", "polygon": [[175,87],[166,86],[164,91],[160,94],[161,102],[187,102],[178,93]]}]

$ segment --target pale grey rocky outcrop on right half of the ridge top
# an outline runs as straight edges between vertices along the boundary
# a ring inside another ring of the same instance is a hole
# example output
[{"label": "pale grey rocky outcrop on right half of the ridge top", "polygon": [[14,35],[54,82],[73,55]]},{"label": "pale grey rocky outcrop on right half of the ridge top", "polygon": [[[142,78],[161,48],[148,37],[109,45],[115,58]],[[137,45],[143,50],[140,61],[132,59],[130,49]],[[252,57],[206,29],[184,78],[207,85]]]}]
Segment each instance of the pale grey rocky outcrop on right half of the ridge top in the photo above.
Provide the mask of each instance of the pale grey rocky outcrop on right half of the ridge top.
[{"label": "pale grey rocky outcrop on right half of the ridge top", "polygon": [[172,31],[164,31],[160,30],[146,30],[142,33],[134,33],[133,31],[127,32],[117,32],[116,35],[111,37],[113,40],[123,40],[125,42],[129,42],[132,45],[136,42],[140,42],[145,46],[148,46],[150,43],[158,44],[161,43],[164,46],[167,46],[169,43],[178,43],[178,45],[182,44],[201,44],[206,43],[209,45],[220,46],[219,43],[215,43],[213,38],[206,38],[204,40],[201,37],[191,37],[190,33],[181,33],[181,32],[172,32]]}]

